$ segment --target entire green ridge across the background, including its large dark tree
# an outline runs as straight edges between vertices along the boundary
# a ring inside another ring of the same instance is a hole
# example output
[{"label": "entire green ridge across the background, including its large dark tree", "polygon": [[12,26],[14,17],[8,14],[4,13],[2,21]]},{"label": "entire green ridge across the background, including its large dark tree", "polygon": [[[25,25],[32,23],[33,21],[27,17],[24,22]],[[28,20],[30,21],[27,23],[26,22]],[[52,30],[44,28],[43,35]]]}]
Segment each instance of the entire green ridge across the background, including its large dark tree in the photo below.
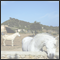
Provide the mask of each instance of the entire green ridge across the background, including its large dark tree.
[{"label": "entire green ridge across the background, including its large dark tree", "polygon": [[29,22],[25,22],[22,20],[18,20],[15,18],[11,18],[5,22],[2,23],[2,25],[8,25],[9,27],[13,27],[13,28],[18,28],[18,29],[26,29],[26,30],[41,30],[42,31],[42,27],[46,30],[53,30],[56,31],[57,33],[59,33],[59,27],[53,27],[53,26],[46,26],[46,25],[42,25],[40,24],[40,22],[34,22],[34,23],[29,23]]}]

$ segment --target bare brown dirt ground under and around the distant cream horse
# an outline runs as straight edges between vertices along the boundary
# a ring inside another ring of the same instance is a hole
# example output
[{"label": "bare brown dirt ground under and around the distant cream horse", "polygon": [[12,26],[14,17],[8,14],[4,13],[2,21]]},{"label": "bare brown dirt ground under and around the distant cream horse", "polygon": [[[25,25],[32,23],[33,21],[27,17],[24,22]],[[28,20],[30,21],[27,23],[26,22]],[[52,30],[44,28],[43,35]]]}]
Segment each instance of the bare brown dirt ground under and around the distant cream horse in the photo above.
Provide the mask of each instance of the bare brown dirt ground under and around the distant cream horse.
[{"label": "bare brown dirt ground under and around the distant cream horse", "polygon": [[[11,35],[10,33],[9,35]],[[27,37],[32,34],[20,34],[21,36],[16,36],[14,39],[13,47],[12,47],[12,42],[9,40],[6,40],[5,44],[6,46],[3,45],[3,39],[1,38],[1,51],[22,51],[22,39],[24,37]]]}]

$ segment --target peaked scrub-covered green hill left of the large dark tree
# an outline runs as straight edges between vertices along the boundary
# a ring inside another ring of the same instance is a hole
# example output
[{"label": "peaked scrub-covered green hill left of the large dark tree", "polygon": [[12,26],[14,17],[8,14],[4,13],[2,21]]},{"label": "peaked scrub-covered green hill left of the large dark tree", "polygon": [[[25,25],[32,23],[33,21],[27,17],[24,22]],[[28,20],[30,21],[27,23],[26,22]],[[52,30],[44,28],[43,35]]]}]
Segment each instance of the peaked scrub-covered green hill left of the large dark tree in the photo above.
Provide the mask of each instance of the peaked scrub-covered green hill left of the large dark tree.
[{"label": "peaked scrub-covered green hill left of the large dark tree", "polygon": [[8,25],[10,27],[16,28],[24,28],[24,26],[28,27],[29,24],[30,24],[29,22],[25,22],[11,17],[9,20],[2,23],[2,25]]}]

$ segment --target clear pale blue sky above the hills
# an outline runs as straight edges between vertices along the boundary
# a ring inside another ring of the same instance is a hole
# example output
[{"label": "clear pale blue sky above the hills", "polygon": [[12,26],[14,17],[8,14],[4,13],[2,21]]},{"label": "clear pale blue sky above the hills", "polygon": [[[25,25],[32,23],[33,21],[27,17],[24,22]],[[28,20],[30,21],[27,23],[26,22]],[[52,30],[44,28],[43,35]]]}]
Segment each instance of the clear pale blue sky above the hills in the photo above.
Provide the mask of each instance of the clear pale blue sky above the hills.
[{"label": "clear pale blue sky above the hills", "polygon": [[59,26],[59,1],[1,1],[1,23],[15,18]]}]

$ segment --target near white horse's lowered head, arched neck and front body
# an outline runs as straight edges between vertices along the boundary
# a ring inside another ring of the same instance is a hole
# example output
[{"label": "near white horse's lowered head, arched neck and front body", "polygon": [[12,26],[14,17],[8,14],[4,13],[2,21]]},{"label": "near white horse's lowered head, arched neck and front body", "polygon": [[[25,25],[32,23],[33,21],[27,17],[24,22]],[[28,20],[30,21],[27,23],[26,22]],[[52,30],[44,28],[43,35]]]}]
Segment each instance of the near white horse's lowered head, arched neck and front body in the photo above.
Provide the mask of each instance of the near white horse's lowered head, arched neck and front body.
[{"label": "near white horse's lowered head, arched neck and front body", "polygon": [[[30,40],[30,42],[28,42]],[[47,48],[47,53],[49,58],[53,58],[56,52],[56,38],[53,36],[47,34],[47,33],[40,33],[34,36],[34,38],[26,40],[26,44],[22,45],[28,45],[28,47],[25,49],[25,47],[22,46],[23,50],[26,51],[33,51],[33,52],[38,52],[41,51],[43,46],[45,45]],[[22,41],[24,42],[24,41]]]}]

